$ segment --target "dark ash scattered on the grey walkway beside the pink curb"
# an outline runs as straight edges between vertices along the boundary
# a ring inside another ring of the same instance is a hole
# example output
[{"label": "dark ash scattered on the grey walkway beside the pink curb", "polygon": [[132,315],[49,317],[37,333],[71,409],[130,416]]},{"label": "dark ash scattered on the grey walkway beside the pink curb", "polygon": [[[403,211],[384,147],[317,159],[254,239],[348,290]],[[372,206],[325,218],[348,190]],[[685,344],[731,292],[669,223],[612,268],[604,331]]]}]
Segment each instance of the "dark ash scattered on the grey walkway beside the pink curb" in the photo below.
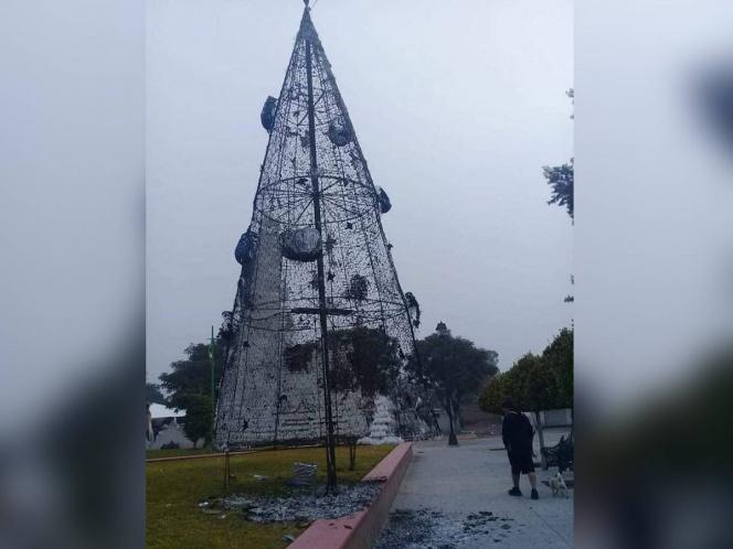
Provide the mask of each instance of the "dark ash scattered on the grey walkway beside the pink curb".
[{"label": "dark ash scattered on the grey walkway beside the pink curb", "polygon": [[521,526],[513,518],[490,510],[447,516],[428,508],[395,509],[374,549],[459,549],[479,541],[481,547],[488,547],[500,543]]}]

